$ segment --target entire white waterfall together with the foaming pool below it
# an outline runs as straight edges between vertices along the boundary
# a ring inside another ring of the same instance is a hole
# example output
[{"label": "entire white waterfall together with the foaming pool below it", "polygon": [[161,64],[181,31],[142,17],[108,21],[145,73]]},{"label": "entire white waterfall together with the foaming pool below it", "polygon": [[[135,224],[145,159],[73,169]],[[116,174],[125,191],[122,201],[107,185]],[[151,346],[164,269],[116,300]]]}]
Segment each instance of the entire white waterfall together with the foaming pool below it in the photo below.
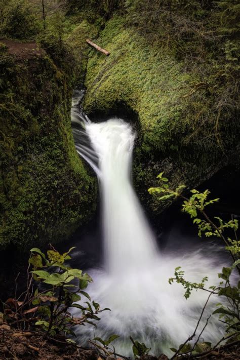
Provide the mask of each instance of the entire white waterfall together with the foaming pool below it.
[{"label": "entire white waterfall together with the foaming pool below it", "polygon": [[[200,250],[188,254],[158,253],[131,183],[135,138],[131,126],[118,118],[91,123],[79,116],[85,130],[73,130],[76,148],[98,175],[105,242],[104,268],[89,271],[94,283],[88,292],[102,308],[111,309],[101,314],[97,329],[89,326],[79,331],[79,342],[117,334],[120,338],[113,343],[117,352],[131,355],[129,336],[132,336],[155,354],[163,351],[171,355],[169,348],[178,347],[193,333],[208,293],[193,292],[186,300],[181,285],[170,285],[169,277],[175,267],[182,266],[189,281],[200,282],[208,275],[209,284],[213,285],[218,283],[218,269]],[[75,113],[73,121],[79,122]],[[86,145],[85,138],[82,144],[83,134],[89,136],[91,144]],[[198,332],[216,302],[218,299],[213,298]],[[220,336],[215,319],[201,339],[215,341]]]}]

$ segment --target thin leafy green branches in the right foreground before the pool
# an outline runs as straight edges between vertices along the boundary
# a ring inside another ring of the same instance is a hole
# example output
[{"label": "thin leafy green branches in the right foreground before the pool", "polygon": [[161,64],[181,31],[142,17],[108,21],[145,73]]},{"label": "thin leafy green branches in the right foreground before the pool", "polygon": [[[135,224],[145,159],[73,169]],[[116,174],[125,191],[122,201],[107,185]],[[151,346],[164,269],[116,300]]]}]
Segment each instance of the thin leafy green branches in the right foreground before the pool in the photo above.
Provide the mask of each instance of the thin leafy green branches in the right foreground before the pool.
[{"label": "thin leafy green branches in the right foreground before the pool", "polygon": [[[216,349],[220,344],[224,342],[239,342],[240,340],[240,241],[237,237],[236,230],[238,229],[238,221],[232,217],[229,221],[224,221],[220,217],[215,216],[211,219],[206,213],[206,207],[219,201],[219,198],[209,199],[209,190],[199,192],[196,189],[190,190],[191,196],[186,197],[183,194],[185,185],[180,185],[176,189],[171,189],[168,184],[168,179],[163,176],[163,173],[157,176],[159,179],[158,187],[151,187],[148,189],[149,193],[156,196],[159,201],[166,201],[171,197],[180,197],[183,199],[182,211],[186,212],[193,219],[193,224],[197,225],[198,236],[204,235],[205,237],[217,237],[225,244],[226,251],[229,252],[232,258],[231,266],[223,267],[222,272],[218,274],[220,283],[218,286],[210,286],[207,288],[206,283],[208,277],[203,277],[201,283],[191,283],[184,277],[184,271],[181,267],[176,267],[174,277],[169,279],[169,283],[176,282],[184,287],[184,297],[187,299],[192,290],[207,291],[209,296],[202,309],[202,313],[199,315],[196,328],[191,336],[179,346],[178,349],[172,348],[174,355],[172,358],[178,358],[178,356],[192,356],[198,353],[210,353],[213,349]],[[229,230],[233,230],[234,238],[230,237]],[[238,282],[233,279],[232,273],[238,272]],[[192,344],[191,340],[196,336],[199,323],[204,315],[207,304],[211,296],[215,294],[220,297],[218,308],[213,311],[212,314],[219,314],[219,321],[225,324],[225,335],[217,344],[211,344],[209,342],[201,342],[199,339],[203,334],[205,328],[208,325],[209,318],[207,318],[206,324],[197,339],[194,339]]]}]

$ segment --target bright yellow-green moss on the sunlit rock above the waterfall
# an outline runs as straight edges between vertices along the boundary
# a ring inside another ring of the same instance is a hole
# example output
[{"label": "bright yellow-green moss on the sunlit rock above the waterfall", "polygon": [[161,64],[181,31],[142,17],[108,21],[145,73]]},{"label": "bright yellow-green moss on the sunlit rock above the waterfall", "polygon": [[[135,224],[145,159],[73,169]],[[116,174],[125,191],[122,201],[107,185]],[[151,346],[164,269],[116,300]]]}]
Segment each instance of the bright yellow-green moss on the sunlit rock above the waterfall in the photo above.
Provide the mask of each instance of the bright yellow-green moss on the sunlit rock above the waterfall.
[{"label": "bright yellow-green moss on the sunlit rock above the waterfall", "polygon": [[146,132],[143,146],[165,150],[173,138],[172,122],[181,119],[179,99],[184,91],[173,89],[185,82],[182,65],[166,54],[153,53],[144,39],[123,27],[120,17],[106,24],[98,44],[111,55],[106,58],[95,50],[91,52],[86,111],[107,111],[116,102],[127,103],[138,113],[142,131]]}]

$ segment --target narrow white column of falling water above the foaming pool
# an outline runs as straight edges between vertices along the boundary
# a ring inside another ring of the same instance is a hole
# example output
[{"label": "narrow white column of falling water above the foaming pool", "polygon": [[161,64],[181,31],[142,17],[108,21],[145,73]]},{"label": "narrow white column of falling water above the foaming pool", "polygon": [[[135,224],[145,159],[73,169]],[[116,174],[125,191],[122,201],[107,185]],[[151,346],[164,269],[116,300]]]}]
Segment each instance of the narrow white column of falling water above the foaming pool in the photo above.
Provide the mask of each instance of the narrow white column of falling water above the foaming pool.
[{"label": "narrow white column of falling water above the foaming pool", "polygon": [[99,158],[105,267],[110,274],[147,268],[155,260],[157,249],[131,185],[135,135],[121,119],[89,123],[86,132]]}]

